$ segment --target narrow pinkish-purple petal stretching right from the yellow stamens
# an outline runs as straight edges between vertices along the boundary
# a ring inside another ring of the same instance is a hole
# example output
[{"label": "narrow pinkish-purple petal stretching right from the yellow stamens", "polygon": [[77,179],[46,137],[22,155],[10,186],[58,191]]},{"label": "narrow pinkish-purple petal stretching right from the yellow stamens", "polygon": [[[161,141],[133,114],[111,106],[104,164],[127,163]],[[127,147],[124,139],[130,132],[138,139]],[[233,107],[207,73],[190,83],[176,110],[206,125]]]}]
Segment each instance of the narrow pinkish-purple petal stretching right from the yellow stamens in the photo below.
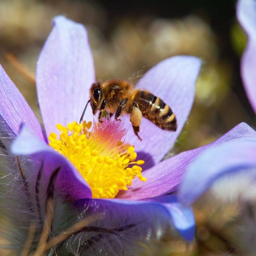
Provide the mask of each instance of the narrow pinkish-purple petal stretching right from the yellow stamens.
[{"label": "narrow pinkish-purple petal stretching right from the yellow stamens", "polygon": [[[132,188],[120,192],[118,197],[130,200],[142,200],[143,198],[174,192],[181,183],[188,165],[198,154],[207,148],[221,145],[227,141],[243,141],[244,139],[256,139],[256,132],[248,124],[241,123],[213,143],[182,152],[143,171],[143,176],[147,178],[147,181],[142,183],[138,179],[134,180]],[[197,178],[197,175],[195,178]]]}]

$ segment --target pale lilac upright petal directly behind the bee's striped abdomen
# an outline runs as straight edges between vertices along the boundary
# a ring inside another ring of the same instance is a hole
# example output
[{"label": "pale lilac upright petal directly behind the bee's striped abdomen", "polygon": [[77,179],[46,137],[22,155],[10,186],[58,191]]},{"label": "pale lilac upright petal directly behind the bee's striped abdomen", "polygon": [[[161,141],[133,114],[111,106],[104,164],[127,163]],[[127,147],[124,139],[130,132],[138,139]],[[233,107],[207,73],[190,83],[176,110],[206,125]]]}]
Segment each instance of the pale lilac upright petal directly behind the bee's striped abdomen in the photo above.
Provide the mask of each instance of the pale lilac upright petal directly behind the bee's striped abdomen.
[{"label": "pale lilac upright petal directly behind the bee's striped abdomen", "polygon": [[[143,118],[139,132],[143,141],[139,141],[134,135],[129,118],[125,118],[126,127],[129,128],[127,141],[135,146],[137,152],[143,152],[140,157],[146,162],[160,162],[174,145],[193,105],[200,67],[201,61],[196,57],[174,56],[151,68],[136,85],[135,88],[146,89],[167,103],[175,113],[178,123],[177,131],[170,132]],[[147,164],[144,168],[148,168]]]}]

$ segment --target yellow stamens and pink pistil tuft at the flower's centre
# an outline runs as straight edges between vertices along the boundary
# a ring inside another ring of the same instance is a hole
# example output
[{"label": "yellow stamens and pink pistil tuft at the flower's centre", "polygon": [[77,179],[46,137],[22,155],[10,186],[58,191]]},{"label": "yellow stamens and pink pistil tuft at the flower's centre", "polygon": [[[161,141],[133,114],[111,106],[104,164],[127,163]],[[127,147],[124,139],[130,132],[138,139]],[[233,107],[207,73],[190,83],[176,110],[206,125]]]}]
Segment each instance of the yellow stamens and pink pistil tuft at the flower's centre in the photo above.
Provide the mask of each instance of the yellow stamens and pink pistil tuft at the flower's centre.
[{"label": "yellow stamens and pink pistil tuft at the flower's centre", "polygon": [[[60,131],[49,135],[49,146],[67,157],[85,178],[92,190],[93,198],[114,198],[119,190],[128,190],[136,176],[141,181],[143,160],[135,161],[134,147],[121,141],[126,129],[120,122],[102,120],[92,122],[69,123],[67,127],[57,124]],[[130,164],[134,164],[129,167]]]}]

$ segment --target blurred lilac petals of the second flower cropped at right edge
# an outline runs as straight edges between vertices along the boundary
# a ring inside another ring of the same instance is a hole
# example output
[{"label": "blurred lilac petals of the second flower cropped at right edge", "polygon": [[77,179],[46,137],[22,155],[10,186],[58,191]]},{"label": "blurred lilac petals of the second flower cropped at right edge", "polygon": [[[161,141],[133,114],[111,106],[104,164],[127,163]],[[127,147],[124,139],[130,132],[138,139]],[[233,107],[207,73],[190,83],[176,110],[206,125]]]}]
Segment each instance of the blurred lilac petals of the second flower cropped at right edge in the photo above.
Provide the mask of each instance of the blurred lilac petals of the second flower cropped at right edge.
[{"label": "blurred lilac petals of the second flower cropped at right edge", "polygon": [[[241,60],[241,76],[251,106],[255,111],[256,1],[238,1],[237,18],[248,35],[248,44]],[[239,138],[206,150],[190,165],[181,184],[180,198],[183,203],[192,204],[216,180],[226,175],[230,175],[231,179],[235,173],[239,174],[242,171],[244,177],[249,177],[251,182],[254,181],[256,176],[256,132],[249,127],[240,132]]]}]

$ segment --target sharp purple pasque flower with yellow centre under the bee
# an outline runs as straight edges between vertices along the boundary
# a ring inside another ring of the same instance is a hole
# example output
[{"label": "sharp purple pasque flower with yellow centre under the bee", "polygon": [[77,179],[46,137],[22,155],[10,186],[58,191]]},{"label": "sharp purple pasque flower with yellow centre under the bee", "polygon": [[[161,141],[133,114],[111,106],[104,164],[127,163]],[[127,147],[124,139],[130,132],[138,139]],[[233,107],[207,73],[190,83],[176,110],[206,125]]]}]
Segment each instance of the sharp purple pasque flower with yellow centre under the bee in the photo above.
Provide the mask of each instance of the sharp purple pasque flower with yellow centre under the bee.
[{"label": "sharp purple pasque flower with yellow centre under the bee", "polygon": [[[176,132],[163,131],[143,119],[142,142],[126,116],[122,123],[103,120],[90,129],[89,107],[86,122],[77,123],[95,82],[92,52],[81,24],[56,17],[40,53],[36,86],[44,130],[0,67],[0,146],[5,162],[1,195],[6,201],[2,215],[9,223],[4,235],[10,246],[18,253],[23,248],[23,255],[28,255],[40,239],[36,255],[47,248],[49,254],[63,250],[61,255],[68,254],[66,250],[75,255],[134,255],[143,249],[139,244],[170,230],[192,240],[193,213],[170,195],[181,180],[186,153],[160,161],[186,122],[200,66],[196,57],[175,56],[139,80],[138,88],[160,96],[178,118]],[[60,243],[53,241],[52,247],[52,240],[49,247],[42,246],[42,237],[54,238],[97,213],[103,216],[95,217],[89,226],[71,232]],[[30,246],[29,239],[35,240]]]}]

